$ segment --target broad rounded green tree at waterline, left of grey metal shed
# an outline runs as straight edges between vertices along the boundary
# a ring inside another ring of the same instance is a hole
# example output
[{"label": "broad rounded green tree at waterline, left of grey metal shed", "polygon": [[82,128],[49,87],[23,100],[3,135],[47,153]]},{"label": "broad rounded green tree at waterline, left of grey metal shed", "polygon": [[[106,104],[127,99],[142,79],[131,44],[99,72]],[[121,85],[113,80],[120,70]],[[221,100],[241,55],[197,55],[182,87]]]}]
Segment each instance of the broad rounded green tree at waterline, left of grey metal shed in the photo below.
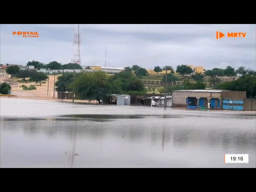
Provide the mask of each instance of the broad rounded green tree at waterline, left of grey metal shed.
[{"label": "broad rounded green tree at waterline, left of grey metal shed", "polygon": [[102,71],[80,73],[74,80],[74,93],[80,99],[100,100],[110,94],[108,74]]}]

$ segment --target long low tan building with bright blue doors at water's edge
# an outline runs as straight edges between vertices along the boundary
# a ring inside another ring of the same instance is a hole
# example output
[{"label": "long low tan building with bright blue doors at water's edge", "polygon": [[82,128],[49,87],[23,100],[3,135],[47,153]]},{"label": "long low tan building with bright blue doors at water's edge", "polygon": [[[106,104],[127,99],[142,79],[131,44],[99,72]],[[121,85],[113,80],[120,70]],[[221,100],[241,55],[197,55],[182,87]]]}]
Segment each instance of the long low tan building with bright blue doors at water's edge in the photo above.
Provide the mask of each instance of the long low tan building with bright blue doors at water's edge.
[{"label": "long low tan building with bright blue doors at water's edge", "polygon": [[230,90],[177,90],[172,92],[173,107],[244,110],[246,91]]}]

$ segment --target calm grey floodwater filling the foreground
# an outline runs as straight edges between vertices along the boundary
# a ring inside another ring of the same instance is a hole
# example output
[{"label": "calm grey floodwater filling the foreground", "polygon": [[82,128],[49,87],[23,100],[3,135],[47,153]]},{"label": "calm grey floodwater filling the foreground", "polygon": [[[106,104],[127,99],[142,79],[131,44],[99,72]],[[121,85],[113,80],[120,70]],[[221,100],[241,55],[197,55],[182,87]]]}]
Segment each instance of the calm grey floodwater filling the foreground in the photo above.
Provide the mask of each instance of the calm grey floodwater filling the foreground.
[{"label": "calm grey floodwater filling the foreground", "polygon": [[255,113],[0,100],[1,168],[256,167]]}]

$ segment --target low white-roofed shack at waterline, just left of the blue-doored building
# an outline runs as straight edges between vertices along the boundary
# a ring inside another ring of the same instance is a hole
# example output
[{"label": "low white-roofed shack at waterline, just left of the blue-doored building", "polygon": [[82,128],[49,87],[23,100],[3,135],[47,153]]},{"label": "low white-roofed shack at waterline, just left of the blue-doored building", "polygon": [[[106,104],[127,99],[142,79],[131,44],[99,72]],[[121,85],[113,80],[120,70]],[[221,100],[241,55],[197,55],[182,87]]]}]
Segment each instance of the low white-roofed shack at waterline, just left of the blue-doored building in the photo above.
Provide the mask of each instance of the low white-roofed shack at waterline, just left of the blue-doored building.
[{"label": "low white-roofed shack at waterline, just left of the blue-doored building", "polygon": [[[144,98],[145,106],[164,107],[164,96],[146,97]],[[166,107],[172,106],[172,96],[166,96]]]}]

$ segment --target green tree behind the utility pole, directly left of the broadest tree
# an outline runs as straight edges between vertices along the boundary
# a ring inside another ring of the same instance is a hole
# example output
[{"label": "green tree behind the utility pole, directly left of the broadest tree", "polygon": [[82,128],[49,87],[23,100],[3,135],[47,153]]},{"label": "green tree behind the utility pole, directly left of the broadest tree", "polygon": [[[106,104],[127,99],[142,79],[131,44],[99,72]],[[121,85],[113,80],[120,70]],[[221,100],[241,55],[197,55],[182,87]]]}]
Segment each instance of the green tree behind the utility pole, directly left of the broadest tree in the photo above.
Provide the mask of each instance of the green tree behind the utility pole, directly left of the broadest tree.
[{"label": "green tree behind the utility pole, directly left of the broadest tree", "polygon": [[[64,76],[63,75],[58,76],[57,81],[55,82],[55,86],[56,86],[55,90],[57,92],[66,92],[66,91],[71,92],[72,88],[70,88],[70,86],[73,83],[73,75],[74,75],[73,72],[66,72],[64,73]],[[77,74],[75,73],[75,76],[76,75]],[[64,77],[63,80],[62,80],[62,77]],[[62,84],[62,82],[64,82],[64,84]]]}]

